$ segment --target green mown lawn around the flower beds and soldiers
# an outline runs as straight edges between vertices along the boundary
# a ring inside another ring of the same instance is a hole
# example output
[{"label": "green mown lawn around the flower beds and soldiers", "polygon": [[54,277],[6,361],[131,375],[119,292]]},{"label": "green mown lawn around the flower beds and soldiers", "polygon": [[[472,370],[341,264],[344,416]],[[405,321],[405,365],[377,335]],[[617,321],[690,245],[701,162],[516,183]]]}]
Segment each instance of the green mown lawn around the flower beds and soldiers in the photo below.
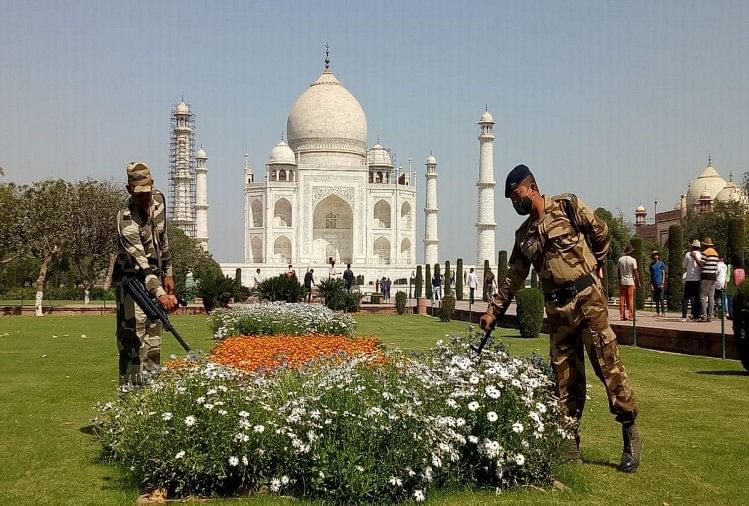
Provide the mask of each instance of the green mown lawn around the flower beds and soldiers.
[{"label": "green mown lawn around the flower beds and soldiers", "polygon": [[[359,333],[388,346],[426,350],[463,322],[420,316],[362,316]],[[194,348],[212,342],[202,316],[176,316]],[[0,504],[132,504],[137,484],[99,462],[88,433],[92,406],[115,394],[113,316],[0,317]],[[8,333],[7,336],[3,334]],[[548,354],[548,338],[523,340],[503,330],[516,355]],[[57,336],[57,337],[54,337]],[[85,336],[85,337],[83,337]],[[181,355],[164,336],[163,355]],[[641,415],[644,462],[635,475],[617,472],[619,426],[603,387],[588,367],[583,418],[585,464],[566,466],[571,490],[440,491],[431,504],[745,504],[749,497],[749,376],[737,361],[622,348]],[[215,504],[279,504],[276,497]]]}]

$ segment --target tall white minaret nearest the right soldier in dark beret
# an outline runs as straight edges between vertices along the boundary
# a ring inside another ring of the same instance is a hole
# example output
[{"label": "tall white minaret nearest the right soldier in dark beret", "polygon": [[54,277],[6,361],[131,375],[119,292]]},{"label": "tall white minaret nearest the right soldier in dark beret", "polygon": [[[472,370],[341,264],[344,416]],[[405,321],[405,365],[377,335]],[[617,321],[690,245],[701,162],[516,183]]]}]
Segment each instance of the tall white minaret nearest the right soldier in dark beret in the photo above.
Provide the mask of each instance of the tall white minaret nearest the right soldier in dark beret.
[{"label": "tall white minaret nearest the right soldier in dark beret", "polygon": [[489,111],[484,111],[479,121],[479,180],[476,183],[479,191],[478,219],[476,220],[476,266],[481,268],[484,260],[494,265],[494,232],[497,223],[494,221],[494,118]]}]

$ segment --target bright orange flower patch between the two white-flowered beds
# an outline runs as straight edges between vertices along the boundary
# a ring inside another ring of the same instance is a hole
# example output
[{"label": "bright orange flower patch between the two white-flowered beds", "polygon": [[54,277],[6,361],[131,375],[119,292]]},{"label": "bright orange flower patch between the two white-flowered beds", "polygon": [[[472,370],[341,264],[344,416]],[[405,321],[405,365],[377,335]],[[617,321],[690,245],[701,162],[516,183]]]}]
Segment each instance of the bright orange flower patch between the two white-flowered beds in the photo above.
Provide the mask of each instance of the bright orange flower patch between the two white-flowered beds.
[{"label": "bright orange flower patch between the two white-flowered beds", "polygon": [[268,371],[281,366],[298,368],[311,360],[364,355],[382,359],[380,340],[343,336],[228,337],[213,347],[210,360],[244,371]]}]

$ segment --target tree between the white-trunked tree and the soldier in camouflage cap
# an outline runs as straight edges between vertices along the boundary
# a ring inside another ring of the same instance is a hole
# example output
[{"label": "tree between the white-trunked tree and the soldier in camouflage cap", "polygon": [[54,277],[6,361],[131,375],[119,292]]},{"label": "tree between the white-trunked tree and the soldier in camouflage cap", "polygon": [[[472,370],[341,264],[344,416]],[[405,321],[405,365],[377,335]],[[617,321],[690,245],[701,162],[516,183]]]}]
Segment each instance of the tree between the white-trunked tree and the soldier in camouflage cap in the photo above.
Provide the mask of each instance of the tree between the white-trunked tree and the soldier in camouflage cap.
[{"label": "tree between the white-trunked tree and the soldier in camouflage cap", "polygon": [[108,181],[86,179],[75,184],[69,253],[85,288],[108,274],[118,249],[117,211],[125,198],[126,193]]}]

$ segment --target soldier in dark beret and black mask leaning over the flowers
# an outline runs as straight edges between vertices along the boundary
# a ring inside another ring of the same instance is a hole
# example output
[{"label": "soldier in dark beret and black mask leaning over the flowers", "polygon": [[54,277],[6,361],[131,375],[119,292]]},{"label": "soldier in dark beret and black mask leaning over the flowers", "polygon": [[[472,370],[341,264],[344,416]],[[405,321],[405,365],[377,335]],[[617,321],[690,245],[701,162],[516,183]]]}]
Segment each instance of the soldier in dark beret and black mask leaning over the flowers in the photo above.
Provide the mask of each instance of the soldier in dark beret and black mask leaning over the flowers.
[{"label": "soldier in dark beret and black mask leaning over the flowers", "polygon": [[619,469],[635,472],[642,452],[635,427],[638,408],[619,359],[616,335],[608,323],[601,286],[609,250],[608,227],[575,195],[542,195],[525,165],[508,174],[505,197],[518,214],[530,216],[515,232],[510,270],[481,317],[481,328],[504,314],[515,292],[523,288],[532,265],[539,273],[546,300],[557,394],[563,411],[574,421],[574,440],[566,457],[582,461],[578,427],[585,407],[583,350],[587,350],[596,376],[606,387],[609,409],[622,424],[624,451]]}]

